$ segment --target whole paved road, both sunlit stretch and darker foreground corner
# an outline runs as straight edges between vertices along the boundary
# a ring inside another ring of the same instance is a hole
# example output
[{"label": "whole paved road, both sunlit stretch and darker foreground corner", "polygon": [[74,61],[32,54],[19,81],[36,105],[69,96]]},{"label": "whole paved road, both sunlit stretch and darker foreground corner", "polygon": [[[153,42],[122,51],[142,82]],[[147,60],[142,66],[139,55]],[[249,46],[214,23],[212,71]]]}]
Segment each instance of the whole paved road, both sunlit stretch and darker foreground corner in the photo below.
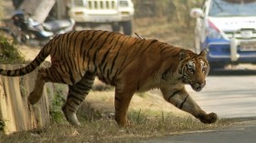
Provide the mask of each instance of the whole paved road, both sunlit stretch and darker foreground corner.
[{"label": "whole paved road, both sunlit stretch and darker foreground corner", "polygon": [[[256,68],[253,68],[256,69]],[[256,117],[256,70],[226,70],[207,78],[201,92],[187,87],[190,95],[207,112],[219,117]],[[256,120],[230,128],[149,138],[143,143],[255,143]]]}]

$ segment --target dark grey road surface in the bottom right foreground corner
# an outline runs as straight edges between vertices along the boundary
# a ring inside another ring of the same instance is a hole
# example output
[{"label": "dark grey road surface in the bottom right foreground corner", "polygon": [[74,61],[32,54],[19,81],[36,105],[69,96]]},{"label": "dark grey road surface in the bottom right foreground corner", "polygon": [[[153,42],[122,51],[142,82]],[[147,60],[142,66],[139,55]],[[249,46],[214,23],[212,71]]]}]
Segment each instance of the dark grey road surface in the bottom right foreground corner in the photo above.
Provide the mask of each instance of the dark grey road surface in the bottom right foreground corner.
[{"label": "dark grey road surface in the bottom right foreground corner", "polygon": [[255,135],[256,120],[215,131],[148,138],[141,143],[255,143]]}]

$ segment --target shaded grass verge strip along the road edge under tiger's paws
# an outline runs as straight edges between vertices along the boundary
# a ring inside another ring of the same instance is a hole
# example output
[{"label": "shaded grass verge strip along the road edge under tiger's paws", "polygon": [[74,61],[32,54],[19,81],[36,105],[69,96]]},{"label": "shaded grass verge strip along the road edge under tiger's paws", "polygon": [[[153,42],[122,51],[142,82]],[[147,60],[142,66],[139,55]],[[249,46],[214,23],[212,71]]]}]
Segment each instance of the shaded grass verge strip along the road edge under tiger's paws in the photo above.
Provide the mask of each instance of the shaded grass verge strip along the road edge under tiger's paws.
[{"label": "shaded grass verge strip along the road edge under tiger's paws", "polygon": [[144,117],[142,113],[131,113],[130,127],[119,127],[112,118],[82,121],[82,127],[74,128],[67,123],[51,124],[45,128],[21,131],[5,136],[3,142],[124,142],[139,141],[142,138],[163,137],[191,130],[222,128],[236,122],[234,119],[220,119],[217,123],[205,125],[193,117]]}]

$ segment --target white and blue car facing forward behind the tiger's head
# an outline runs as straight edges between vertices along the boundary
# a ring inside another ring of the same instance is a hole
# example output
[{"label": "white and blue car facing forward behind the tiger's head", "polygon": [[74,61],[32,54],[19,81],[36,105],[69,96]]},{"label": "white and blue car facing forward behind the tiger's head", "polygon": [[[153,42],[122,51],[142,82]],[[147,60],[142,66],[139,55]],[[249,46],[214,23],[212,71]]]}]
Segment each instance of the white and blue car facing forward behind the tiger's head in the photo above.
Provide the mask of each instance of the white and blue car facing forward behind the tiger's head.
[{"label": "white and blue car facing forward behind the tiger's head", "polygon": [[205,0],[190,15],[197,18],[196,52],[207,48],[213,68],[256,63],[256,0]]}]

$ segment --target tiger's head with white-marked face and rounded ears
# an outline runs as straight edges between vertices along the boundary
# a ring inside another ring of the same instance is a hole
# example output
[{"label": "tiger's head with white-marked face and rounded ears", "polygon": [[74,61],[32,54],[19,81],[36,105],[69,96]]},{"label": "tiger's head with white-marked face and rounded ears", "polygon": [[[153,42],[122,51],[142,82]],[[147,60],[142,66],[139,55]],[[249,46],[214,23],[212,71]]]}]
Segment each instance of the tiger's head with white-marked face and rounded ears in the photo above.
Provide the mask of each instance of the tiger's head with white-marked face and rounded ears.
[{"label": "tiger's head with white-marked face and rounded ears", "polygon": [[179,52],[179,75],[184,84],[190,85],[195,91],[206,86],[205,78],[209,72],[207,52],[203,50],[199,55],[181,50]]}]

